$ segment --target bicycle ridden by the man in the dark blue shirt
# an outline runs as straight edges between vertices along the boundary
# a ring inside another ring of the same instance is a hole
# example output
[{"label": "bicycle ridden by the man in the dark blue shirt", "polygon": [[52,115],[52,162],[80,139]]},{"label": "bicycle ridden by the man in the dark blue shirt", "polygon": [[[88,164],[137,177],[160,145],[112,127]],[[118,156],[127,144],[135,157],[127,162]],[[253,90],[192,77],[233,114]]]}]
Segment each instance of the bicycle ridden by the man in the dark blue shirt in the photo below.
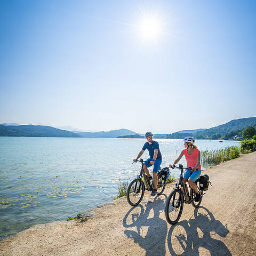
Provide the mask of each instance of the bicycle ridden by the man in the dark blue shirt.
[{"label": "bicycle ridden by the man in the dark blue shirt", "polygon": [[[135,163],[137,162],[140,162],[142,164],[140,169],[140,174],[138,175],[137,179],[134,179],[130,183],[130,185],[127,188],[127,194],[126,194],[127,202],[131,206],[136,206],[141,202],[145,193],[146,186],[148,191],[152,191],[154,186],[154,178],[152,179],[152,182],[150,182],[145,171],[143,170],[143,165],[147,161],[143,161],[143,159],[140,159],[135,161]],[[165,167],[164,169],[161,169],[161,167],[159,167],[159,170],[157,173],[158,175],[157,189],[161,189],[161,190],[157,193],[157,195],[161,195],[165,189],[166,180],[163,179],[161,170],[165,171],[167,170],[166,168],[168,167]],[[144,181],[142,180],[142,177],[144,178]],[[146,186],[144,182],[146,182]]]}]

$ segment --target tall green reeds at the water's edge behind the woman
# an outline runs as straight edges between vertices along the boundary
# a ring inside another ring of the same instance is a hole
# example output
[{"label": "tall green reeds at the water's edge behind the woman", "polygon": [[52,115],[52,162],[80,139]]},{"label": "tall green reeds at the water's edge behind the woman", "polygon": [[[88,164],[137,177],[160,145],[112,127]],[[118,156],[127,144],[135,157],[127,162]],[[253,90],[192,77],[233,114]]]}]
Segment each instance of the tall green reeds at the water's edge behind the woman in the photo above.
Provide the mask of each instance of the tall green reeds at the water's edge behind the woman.
[{"label": "tall green reeds at the water's edge behind the woman", "polygon": [[201,152],[201,164],[204,167],[217,165],[222,162],[235,159],[239,156],[239,147],[227,147],[217,150],[206,150]]}]

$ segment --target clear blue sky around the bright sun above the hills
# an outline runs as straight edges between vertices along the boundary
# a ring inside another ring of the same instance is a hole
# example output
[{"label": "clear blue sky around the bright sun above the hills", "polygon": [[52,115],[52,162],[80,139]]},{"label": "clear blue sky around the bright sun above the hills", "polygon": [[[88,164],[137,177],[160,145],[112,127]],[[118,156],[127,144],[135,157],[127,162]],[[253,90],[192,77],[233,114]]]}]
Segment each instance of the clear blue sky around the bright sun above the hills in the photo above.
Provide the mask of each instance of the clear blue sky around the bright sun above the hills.
[{"label": "clear blue sky around the bright sun above the hills", "polygon": [[255,13],[255,1],[1,1],[0,123],[170,133],[256,116]]}]

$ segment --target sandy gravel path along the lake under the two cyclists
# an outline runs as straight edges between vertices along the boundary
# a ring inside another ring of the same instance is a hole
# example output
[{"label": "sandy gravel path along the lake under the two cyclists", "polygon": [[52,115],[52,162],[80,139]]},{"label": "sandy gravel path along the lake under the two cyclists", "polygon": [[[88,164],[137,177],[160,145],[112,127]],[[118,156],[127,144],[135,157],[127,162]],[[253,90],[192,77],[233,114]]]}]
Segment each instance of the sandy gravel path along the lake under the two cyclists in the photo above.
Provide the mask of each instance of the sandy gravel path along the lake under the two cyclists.
[{"label": "sandy gravel path along the lake under the two cyclists", "polygon": [[37,225],[0,243],[1,255],[256,255],[256,152],[204,171],[213,187],[198,209],[185,204],[180,221],[165,220],[165,200],[147,192],[99,207],[78,223]]}]

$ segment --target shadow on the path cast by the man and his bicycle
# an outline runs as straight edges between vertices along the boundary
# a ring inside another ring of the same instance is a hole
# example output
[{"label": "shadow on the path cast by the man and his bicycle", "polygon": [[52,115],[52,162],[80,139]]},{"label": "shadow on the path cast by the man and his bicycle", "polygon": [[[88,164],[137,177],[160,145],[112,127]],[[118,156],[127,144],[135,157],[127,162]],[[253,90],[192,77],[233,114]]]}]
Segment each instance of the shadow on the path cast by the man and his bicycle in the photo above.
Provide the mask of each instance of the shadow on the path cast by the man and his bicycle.
[{"label": "shadow on the path cast by the man and his bicycle", "polygon": [[[165,255],[166,253],[167,223],[159,218],[160,213],[164,212],[165,201],[166,195],[156,196],[154,201],[148,201],[145,207],[142,205],[132,207],[123,219],[125,228],[136,227],[137,229],[137,231],[126,229],[124,234],[127,238],[133,238],[134,243],[138,243],[145,249],[146,256]],[[154,211],[154,216],[148,218],[151,209]]]}]

